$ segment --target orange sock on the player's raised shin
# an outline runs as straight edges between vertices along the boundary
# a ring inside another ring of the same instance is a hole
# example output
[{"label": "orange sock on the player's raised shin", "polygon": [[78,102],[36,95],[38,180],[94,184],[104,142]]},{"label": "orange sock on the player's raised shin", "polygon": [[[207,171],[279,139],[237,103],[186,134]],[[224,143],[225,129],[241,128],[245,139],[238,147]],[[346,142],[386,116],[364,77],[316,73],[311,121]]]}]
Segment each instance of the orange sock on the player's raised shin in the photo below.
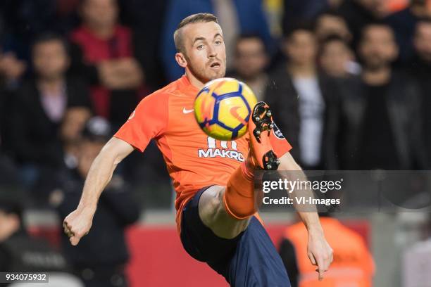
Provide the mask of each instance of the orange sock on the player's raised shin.
[{"label": "orange sock on the player's raised shin", "polygon": [[236,219],[251,217],[258,210],[254,196],[254,170],[247,164],[248,160],[230,176],[223,195],[227,214]]}]

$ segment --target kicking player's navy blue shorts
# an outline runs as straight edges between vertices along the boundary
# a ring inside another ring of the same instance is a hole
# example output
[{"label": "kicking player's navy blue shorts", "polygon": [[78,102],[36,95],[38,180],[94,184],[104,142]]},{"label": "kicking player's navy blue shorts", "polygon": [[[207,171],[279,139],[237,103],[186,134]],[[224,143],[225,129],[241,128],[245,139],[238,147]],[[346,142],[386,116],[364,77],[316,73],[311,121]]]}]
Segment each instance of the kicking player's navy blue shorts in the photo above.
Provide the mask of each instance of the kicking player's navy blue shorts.
[{"label": "kicking player's navy blue shorts", "polygon": [[220,238],[204,225],[199,198],[208,187],[198,191],[182,210],[181,242],[187,253],[206,262],[231,286],[289,287],[282,259],[256,217],[232,239]]}]

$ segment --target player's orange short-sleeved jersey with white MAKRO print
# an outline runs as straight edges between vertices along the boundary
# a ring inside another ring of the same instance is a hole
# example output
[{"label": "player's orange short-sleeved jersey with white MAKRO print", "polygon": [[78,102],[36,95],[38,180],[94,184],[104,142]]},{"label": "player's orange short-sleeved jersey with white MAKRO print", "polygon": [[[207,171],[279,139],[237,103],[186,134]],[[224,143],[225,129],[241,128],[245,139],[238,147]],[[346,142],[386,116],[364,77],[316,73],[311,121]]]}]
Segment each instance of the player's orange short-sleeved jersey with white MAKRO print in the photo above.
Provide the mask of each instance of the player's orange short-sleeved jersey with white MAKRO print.
[{"label": "player's orange short-sleeved jersey with white MAKRO print", "polygon": [[[181,211],[199,191],[210,185],[225,186],[230,174],[249,151],[248,135],[235,141],[207,136],[194,118],[194,99],[199,89],[182,76],[146,96],[115,134],[139,151],[155,139],[177,193],[177,227]],[[285,139],[273,137],[275,153],[281,157],[292,148]]]}]

